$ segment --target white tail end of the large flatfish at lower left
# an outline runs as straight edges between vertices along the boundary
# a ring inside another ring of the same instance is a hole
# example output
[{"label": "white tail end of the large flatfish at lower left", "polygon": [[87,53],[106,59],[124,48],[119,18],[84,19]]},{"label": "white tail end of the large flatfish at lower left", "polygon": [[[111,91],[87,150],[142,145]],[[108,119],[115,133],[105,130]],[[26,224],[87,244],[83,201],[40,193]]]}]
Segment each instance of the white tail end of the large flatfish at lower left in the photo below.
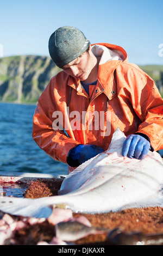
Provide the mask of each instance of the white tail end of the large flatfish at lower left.
[{"label": "white tail end of the large flatfish at lower left", "polygon": [[36,199],[5,197],[0,198],[0,210],[16,216],[48,218],[52,214],[49,206],[36,203]]}]

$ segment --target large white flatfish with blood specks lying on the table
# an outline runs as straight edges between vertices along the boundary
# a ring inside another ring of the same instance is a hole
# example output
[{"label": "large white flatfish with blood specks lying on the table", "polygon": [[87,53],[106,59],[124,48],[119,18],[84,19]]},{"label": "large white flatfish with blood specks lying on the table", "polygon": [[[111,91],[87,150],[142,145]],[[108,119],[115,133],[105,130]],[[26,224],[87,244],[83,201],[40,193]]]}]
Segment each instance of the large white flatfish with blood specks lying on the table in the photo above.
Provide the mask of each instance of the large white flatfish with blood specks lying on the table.
[{"label": "large white flatfish with blood specks lying on the table", "polygon": [[163,206],[163,162],[151,152],[143,160],[123,157],[126,136],[116,129],[108,150],[81,164],[62,182],[59,196],[0,198],[0,210],[12,215],[47,217],[51,206],[73,212],[103,213],[127,208]]}]

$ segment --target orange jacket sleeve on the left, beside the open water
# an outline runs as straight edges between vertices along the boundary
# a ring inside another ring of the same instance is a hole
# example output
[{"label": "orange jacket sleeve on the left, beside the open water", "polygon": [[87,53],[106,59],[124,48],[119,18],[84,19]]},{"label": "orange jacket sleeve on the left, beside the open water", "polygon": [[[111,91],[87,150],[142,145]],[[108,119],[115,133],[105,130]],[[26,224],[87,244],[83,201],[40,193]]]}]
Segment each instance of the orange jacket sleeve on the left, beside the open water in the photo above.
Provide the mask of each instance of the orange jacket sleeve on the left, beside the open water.
[{"label": "orange jacket sleeve on the left, beside the open water", "polygon": [[38,101],[33,117],[32,137],[54,160],[66,163],[68,152],[79,142],[67,137],[64,130],[53,129],[53,112],[56,108],[52,87],[50,82]]}]

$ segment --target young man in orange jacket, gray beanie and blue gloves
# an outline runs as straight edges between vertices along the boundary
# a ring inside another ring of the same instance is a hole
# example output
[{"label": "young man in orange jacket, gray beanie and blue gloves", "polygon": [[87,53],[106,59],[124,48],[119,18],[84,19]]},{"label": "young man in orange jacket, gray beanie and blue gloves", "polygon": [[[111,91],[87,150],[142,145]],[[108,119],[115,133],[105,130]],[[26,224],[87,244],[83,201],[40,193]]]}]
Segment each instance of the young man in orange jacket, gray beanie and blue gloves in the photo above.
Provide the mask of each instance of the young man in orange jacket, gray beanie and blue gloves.
[{"label": "young man in orange jacket, gray beanie and blue gloves", "polygon": [[163,148],[163,100],[154,81],[117,45],[91,45],[74,27],[49,39],[62,69],[40,96],[33,139],[69,172],[108,149],[117,127],[127,136],[122,155],[143,159]]}]

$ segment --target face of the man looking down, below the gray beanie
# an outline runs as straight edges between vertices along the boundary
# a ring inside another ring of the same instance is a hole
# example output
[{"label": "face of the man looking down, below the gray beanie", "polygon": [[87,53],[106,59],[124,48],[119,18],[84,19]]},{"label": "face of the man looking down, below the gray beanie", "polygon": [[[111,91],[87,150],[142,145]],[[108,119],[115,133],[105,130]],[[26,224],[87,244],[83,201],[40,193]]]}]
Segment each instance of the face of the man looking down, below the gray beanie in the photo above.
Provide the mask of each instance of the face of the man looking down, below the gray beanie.
[{"label": "face of the man looking down, below the gray beanie", "polygon": [[81,81],[87,80],[92,69],[93,59],[90,53],[91,50],[84,52],[80,57],[62,67],[66,74],[78,78]]}]

